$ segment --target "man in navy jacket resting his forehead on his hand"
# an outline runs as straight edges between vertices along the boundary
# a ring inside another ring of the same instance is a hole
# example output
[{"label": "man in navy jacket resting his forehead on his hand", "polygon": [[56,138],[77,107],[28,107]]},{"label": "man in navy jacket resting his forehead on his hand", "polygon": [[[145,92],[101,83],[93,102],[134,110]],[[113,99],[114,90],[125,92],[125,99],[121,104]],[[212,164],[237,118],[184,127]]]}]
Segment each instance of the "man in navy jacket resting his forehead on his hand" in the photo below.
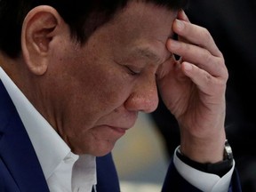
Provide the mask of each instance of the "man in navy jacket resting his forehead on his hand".
[{"label": "man in navy jacket resting his forehead on his hand", "polygon": [[228,71],[185,3],[1,0],[2,191],[119,191],[109,153],[157,89],[182,132],[163,191],[240,190]]}]

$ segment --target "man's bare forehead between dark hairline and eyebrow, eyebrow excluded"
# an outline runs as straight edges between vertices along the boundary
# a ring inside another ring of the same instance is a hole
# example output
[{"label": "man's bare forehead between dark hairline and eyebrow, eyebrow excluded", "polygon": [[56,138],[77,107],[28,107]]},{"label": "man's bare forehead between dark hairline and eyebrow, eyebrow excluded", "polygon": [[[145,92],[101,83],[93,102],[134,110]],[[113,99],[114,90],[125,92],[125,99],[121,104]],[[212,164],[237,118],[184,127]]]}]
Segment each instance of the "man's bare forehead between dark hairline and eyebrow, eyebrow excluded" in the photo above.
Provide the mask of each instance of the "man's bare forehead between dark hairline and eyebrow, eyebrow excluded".
[{"label": "man's bare forehead between dark hairline and eyebrow, eyebrow excluded", "polygon": [[178,11],[151,3],[135,2],[116,14],[111,24],[116,25],[120,33],[132,36],[152,36],[165,42],[173,36],[172,22],[176,19]]}]

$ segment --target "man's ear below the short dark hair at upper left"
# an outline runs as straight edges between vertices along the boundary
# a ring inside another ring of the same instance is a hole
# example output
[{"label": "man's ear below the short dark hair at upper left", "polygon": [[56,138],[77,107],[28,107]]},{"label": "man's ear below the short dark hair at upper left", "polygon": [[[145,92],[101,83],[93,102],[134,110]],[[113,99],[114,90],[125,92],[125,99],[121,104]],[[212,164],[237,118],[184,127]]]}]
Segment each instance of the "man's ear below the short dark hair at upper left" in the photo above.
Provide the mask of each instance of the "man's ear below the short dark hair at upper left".
[{"label": "man's ear below the short dark hair at upper left", "polygon": [[47,71],[55,36],[64,25],[60,14],[51,6],[40,5],[28,12],[21,30],[21,49],[29,70],[36,75]]}]

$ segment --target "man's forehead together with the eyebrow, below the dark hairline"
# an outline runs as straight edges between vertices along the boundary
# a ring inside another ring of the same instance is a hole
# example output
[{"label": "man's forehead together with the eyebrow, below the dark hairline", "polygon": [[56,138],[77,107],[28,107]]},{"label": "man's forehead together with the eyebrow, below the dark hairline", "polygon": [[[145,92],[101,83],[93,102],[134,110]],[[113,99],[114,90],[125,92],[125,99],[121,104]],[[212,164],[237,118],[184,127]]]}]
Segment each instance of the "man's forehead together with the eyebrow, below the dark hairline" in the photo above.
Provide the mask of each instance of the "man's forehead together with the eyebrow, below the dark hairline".
[{"label": "man's forehead together with the eyebrow, below the dark hairline", "polygon": [[115,52],[163,62],[170,56],[165,44],[173,36],[172,21],[176,16],[177,12],[165,7],[132,1],[108,23],[112,42],[121,47]]}]

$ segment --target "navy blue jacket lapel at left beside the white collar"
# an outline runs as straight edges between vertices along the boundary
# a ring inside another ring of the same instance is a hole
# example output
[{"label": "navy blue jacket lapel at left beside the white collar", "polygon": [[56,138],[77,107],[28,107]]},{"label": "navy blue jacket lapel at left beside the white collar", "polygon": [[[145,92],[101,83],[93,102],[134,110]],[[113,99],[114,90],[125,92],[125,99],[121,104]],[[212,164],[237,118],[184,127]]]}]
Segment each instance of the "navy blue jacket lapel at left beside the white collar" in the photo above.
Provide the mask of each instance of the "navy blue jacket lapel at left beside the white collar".
[{"label": "navy blue jacket lapel at left beside the white collar", "polygon": [[0,159],[20,191],[49,192],[28,133],[1,80]]}]

